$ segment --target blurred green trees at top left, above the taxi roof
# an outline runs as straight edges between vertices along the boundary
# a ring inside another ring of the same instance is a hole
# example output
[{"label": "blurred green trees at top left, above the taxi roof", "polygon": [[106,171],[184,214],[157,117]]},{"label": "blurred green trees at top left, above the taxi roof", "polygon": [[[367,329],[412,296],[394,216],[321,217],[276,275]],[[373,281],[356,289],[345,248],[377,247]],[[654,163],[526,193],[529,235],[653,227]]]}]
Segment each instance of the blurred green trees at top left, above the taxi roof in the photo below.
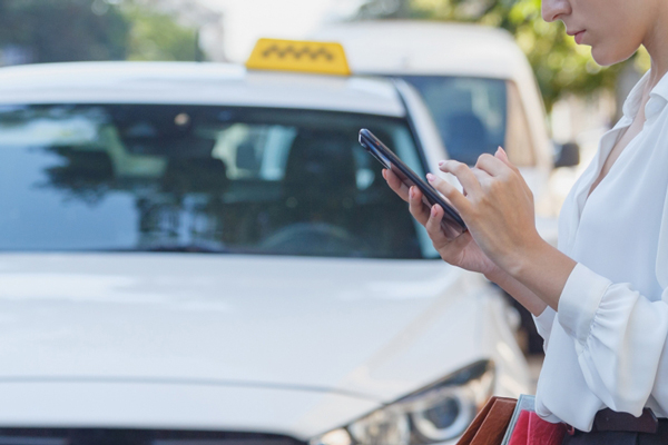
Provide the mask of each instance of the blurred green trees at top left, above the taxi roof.
[{"label": "blurred green trees at top left, above the taxi roof", "polygon": [[196,43],[196,30],[132,0],[0,0],[0,51],[32,62],[194,60]]}]

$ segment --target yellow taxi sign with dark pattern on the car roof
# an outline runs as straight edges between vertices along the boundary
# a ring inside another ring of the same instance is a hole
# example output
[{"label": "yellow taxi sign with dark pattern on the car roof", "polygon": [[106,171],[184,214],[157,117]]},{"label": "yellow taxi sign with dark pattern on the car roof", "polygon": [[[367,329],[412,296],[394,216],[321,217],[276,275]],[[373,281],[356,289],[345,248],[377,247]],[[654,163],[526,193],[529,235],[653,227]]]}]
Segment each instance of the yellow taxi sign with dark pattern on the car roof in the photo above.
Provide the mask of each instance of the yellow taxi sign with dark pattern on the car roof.
[{"label": "yellow taxi sign with dark pattern on the car roof", "polygon": [[246,62],[248,69],[350,76],[340,43],[259,39]]}]

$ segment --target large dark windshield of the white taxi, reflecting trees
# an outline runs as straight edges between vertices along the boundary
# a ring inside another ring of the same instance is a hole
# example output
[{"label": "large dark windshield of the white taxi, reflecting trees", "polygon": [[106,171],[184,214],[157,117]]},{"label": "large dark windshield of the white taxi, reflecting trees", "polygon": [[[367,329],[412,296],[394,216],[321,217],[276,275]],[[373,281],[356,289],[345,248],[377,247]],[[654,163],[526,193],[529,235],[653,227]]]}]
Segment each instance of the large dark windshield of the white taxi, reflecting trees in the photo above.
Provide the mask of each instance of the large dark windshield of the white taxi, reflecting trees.
[{"label": "large dark windshield of the white taxi, reflecting trees", "polygon": [[380,164],[358,146],[361,127],[424,172],[399,118],[214,106],[4,106],[0,250],[432,257]]}]

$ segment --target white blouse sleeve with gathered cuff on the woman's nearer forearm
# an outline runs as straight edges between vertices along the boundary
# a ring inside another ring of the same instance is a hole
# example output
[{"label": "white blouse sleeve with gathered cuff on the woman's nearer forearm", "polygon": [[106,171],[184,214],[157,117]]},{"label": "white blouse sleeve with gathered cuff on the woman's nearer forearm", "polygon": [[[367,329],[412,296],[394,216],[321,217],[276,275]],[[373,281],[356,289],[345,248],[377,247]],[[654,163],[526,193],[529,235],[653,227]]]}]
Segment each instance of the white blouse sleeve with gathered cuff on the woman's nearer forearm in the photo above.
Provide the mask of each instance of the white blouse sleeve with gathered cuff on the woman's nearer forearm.
[{"label": "white blouse sleeve with gathered cuff on the woman's nearer forearm", "polygon": [[639,416],[652,395],[668,408],[668,290],[651,301],[582,264],[568,278],[558,319],[573,338],[588,387],[608,407]]}]

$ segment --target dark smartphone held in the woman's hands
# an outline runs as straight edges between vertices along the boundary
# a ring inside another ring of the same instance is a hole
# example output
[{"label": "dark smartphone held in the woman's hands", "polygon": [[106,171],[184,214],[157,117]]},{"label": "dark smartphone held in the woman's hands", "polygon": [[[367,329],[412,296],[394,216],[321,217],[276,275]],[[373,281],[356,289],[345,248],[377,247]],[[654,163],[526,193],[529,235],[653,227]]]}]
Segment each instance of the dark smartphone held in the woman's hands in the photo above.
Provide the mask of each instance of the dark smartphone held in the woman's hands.
[{"label": "dark smartphone held in the woman's hands", "polygon": [[420,178],[415,171],[399,159],[391,149],[381,142],[381,140],[366,128],[360,130],[360,144],[366,151],[376,158],[383,167],[392,170],[403,184],[407,187],[418,187],[422,191],[422,201],[425,206],[431,208],[434,204],[438,204],[443,208],[445,215],[443,215],[443,219],[441,220],[441,228],[448,238],[455,238],[466,231],[466,225],[462,217],[445,201],[445,199],[443,199],[436,189]]}]

